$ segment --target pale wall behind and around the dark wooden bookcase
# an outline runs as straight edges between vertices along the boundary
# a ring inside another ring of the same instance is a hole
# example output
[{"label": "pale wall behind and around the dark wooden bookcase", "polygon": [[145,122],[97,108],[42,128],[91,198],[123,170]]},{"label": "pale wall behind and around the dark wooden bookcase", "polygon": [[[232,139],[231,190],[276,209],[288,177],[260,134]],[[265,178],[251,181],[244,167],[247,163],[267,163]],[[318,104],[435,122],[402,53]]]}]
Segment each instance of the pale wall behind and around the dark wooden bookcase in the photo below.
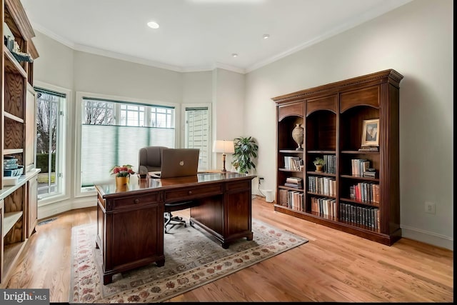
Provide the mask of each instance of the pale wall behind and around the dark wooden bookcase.
[{"label": "pale wall behind and around the dark wooden bookcase", "polygon": [[[396,69],[404,237],[453,249],[453,3],[415,0],[246,75],[245,133],[260,146],[258,176],[275,189],[271,97]],[[425,201],[436,203],[426,214]]]}]

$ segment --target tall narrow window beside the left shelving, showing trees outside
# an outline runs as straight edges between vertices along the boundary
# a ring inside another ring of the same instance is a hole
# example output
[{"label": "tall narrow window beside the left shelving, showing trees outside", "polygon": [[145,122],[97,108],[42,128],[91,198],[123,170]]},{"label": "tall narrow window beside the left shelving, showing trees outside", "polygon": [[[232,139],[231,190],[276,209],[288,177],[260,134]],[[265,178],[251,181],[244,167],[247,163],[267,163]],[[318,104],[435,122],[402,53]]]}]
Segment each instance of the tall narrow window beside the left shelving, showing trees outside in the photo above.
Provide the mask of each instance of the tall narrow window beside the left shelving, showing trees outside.
[{"label": "tall narrow window beside the left shelving, showing trees outside", "polygon": [[63,194],[64,107],[66,94],[34,87],[36,91],[36,167],[39,200]]}]

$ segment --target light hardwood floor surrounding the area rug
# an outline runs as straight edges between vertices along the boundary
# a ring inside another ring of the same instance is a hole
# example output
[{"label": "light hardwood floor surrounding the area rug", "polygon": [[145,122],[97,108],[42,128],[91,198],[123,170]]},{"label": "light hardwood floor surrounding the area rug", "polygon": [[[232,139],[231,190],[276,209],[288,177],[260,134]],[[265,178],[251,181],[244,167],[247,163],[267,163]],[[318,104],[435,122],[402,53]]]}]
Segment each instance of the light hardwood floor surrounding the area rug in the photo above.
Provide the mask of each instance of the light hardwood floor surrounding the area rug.
[{"label": "light hardwood floor surrounding the area rug", "polygon": [[[453,302],[453,251],[410,239],[384,246],[277,213],[261,198],[252,209],[308,243],[169,301]],[[71,228],[95,222],[96,210],[54,217],[37,226],[7,288],[47,288],[51,302],[67,302]]]}]

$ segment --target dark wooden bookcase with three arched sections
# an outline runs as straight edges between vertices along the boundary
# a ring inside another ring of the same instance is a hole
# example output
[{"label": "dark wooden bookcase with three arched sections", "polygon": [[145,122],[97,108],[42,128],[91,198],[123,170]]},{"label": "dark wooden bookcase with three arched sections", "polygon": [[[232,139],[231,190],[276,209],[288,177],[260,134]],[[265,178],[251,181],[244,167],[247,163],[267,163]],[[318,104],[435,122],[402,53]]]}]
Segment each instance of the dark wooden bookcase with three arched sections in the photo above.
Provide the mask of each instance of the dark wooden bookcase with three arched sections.
[{"label": "dark wooden bookcase with three arched sections", "polygon": [[[401,238],[401,79],[401,74],[388,69],[272,98],[277,139],[275,211],[389,246]],[[371,119],[379,119],[378,149],[361,151],[363,122]],[[296,124],[304,129],[302,151],[296,150],[292,139]],[[285,169],[289,156],[302,159],[303,168]],[[321,172],[313,164],[316,157],[326,161]],[[353,160],[368,161],[376,176],[356,174]],[[285,186],[288,177],[301,178],[301,189]]]}]

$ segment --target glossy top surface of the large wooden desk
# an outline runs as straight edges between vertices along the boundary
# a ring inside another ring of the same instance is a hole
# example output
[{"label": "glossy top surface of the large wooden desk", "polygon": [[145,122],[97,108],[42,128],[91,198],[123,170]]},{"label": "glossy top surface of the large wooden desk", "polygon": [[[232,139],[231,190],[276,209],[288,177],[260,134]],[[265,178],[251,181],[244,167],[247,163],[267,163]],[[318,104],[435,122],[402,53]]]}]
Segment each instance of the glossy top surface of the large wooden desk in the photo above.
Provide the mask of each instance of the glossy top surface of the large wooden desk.
[{"label": "glossy top surface of the large wooden desk", "polygon": [[236,181],[236,180],[251,180],[255,178],[255,175],[250,174],[238,174],[231,171],[226,172],[208,172],[199,173],[196,176],[185,176],[176,178],[158,179],[147,176],[146,178],[131,179],[129,184],[124,186],[116,186],[116,181],[110,181],[106,184],[97,184],[95,187],[99,193],[104,196],[119,196],[126,192],[144,192],[159,189],[177,189],[186,186],[199,186],[204,184],[214,184],[225,181]]}]

